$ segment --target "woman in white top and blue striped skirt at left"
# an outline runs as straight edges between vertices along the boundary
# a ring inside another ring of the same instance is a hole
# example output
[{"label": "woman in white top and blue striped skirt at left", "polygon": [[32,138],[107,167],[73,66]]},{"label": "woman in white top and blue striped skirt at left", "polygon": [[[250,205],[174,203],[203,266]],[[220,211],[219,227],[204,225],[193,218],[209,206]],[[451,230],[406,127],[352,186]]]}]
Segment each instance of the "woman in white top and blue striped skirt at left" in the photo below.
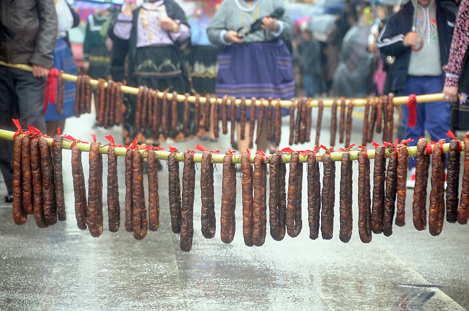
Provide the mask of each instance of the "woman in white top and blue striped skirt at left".
[{"label": "woman in white top and blue striped skirt at left", "polygon": [[[79,16],[75,10],[68,5],[65,0],[55,0],[55,11],[57,12],[57,41],[53,53],[54,67],[66,74],[76,75],[75,59],[68,43],[68,30],[78,26]],[[63,133],[65,119],[74,115],[75,107],[75,82],[65,81],[63,94],[63,113],[59,115],[55,109],[55,104],[48,103],[44,120],[47,135],[53,137],[60,127]]]}]

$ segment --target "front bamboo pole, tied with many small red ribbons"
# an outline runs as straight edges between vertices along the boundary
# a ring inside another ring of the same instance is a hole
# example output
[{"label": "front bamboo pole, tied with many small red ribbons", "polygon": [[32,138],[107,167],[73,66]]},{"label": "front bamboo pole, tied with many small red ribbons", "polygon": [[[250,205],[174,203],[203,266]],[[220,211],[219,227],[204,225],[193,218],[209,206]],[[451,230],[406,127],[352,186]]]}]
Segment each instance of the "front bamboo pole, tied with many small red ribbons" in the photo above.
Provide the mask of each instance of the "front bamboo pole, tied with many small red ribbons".
[{"label": "front bamboo pole, tied with many small red ribbons", "polygon": [[[0,138],[7,139],[7,140],[13,140],[13,135],[14,134],[15,134],[15,132],[10,132],[10,131],[0,129]],[[52,146],[53,139],[52,138],[46,138],[46,140],[47,140],[48,145]],[[71,145],[72,145],[72,141],[65,141],[64,140],[62,142],[62,148],[64,148],[64,149],[71,149]],[[78,143],[76,143],[76,146],[78,146],[81,151],[90,152],[90,144],[78,142]],[[99,153],[107,155],[107,149],[108,148],[109,148],[108,146],[100,147],[99,148]],[[417,147],[416,146],[408,147],[408,149],[409,149],[409,156],[416,156],[416,153],[417,153]],[[444,149],[445,153],[448,153],[449,152],[449,143],[443,144],[443,149]],[[433,147],[432,147],[432,150],[433,150]],[[464,142],[462,142],[462,150],[464,150]],[[116,156],[125,156],[126,151],[127,150],[123,147],[115,148]],[[350,160],[352,160],[352,161],[357,160],[358,151],[359,150],[350,151]],[[144,158],[146,158],[146,151],[141,150],[141,152],[142,152],[142,156]],[[462,152],[464,152],[464,151],[462,151]],[[426,153],[426,151],[425,151],[425,153]],[[156,154],[158,160],[166,161],[167,158],[168,158],[168,155],[170,154],[170,152],[169,151],[155,151],[155,154]],[[318,153],[317,154],[316,159],[317,159],[318,162],[322,161],[322,157],[324,156],[324,154],[325,153]],[[342,154],[343,154],[343,151],[333,151],[333,152],[331,152],[332,161],[342,161]],[[431,154],[431,153],[426,153],[426,154]],[[175,155],[176,155],[176,160],[184,161],[182,153],[177,153],[176,152]],[[211,162],[212,163],[223,163],[224,156],[225,155],[222,155],[222,154],[212,154],[212,161]],[[254,157],[255,156],[256,155],[254,155],[254,154],[251,155],[251,162],[254,162]],[[289,163],[290,162],[290,157],[291,157],[290,154],[282,154],[282,161],[284,163]],[[369,149],[368,150],[368,158],[373,159],[374,157],[375,157],[375,150],[374,149]],[[386,150],[386,157],[389,157],[389,150]],[[200,163],[201,161],[202,161],[202,154],[201,153],[195,153],[194,154],[194,162]],[[267,155],[265,156],[265,162],[269,163],[269,157]],[[307,156],[300,155],[300,162],[301,163],[307,162]],[[241,163],[241,154],[234,154],[233,155],[233,163]]]}]

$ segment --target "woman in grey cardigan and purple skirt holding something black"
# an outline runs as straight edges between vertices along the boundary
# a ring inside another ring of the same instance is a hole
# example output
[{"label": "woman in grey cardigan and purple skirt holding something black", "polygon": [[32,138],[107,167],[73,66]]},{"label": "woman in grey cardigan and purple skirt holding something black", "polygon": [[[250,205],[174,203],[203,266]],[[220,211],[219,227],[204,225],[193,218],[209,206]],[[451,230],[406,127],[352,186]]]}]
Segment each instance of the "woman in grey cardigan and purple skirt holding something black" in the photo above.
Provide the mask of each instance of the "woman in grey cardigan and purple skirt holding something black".
[{"label": "woman in grey cardigan and purple skirt holding something black", "polygon": [[[269,17],[279,12],[278,18]],[[251,25],[259,19],[259,29],[251,33]],[[293,23],[282,0],[224,0],[207,29],[210,41],[225,47],[218,57],[217,96],[294,97],[293,66],[283,41],[290,40],[292,31]],[[249,118],[249,108],[247,115]],[[246,150],[249,135],[241,140],[239,124],[237,130],[238,148]],[[265,135],[257,148],[266,151],[270,144]]]}]

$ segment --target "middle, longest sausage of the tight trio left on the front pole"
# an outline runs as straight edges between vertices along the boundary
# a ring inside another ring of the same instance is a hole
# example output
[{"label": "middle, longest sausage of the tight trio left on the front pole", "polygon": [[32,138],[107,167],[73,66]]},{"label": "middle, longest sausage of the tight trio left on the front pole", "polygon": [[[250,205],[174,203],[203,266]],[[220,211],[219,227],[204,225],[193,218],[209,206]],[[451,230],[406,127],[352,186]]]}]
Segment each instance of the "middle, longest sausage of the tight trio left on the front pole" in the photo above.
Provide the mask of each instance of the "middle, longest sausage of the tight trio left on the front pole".
[{"label": "middle, longest sausage of the tight trio left on the front pole", "polygon": [[136,240],[142,240],[148,230],[143,187],[143,162],[139,150],[132,157],[132,231]]}]

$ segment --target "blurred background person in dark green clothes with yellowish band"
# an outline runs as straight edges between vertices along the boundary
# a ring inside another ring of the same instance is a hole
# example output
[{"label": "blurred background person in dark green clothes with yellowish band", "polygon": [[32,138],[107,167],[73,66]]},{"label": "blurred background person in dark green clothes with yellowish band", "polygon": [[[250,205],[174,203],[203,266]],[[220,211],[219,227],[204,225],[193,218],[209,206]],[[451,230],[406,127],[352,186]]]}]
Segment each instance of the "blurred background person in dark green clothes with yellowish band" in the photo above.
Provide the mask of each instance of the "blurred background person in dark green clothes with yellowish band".
[{"label": "blurred background person in dark green clothes with yellowish band", "polygon": [[[83,42],[83,70],[93,79],[107,79],[111,64],[110,40],[106,42],[106,23],[110,20],[108,9],[98,10],[94,15],[88,15],[88,24]],[[107,44],[107,46],[106,46]]]}]

